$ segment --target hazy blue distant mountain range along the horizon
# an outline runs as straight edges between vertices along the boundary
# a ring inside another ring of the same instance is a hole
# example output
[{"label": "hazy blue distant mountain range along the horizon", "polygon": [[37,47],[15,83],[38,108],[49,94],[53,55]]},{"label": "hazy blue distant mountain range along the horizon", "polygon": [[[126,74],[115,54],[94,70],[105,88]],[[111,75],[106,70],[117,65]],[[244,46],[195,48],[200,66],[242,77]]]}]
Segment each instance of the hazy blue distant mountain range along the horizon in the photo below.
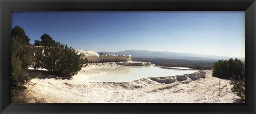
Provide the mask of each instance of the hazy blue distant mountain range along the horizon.
[{"label": "hazy blue distant mountain range along the horizon", "polygon": [[169,59],[189,59],[189,60],[228,60],[230,58],[238,58],[244,61],[244,58],[239,57],[225,57],[214,55],[197,55],[181,52],[169,52],[169,51],[149,51],[149,50],[124,50],[118,52],[99,51],[97,53],[111,54],[111,55],[131,55],[132,57],[141,58],[169,58]]}]

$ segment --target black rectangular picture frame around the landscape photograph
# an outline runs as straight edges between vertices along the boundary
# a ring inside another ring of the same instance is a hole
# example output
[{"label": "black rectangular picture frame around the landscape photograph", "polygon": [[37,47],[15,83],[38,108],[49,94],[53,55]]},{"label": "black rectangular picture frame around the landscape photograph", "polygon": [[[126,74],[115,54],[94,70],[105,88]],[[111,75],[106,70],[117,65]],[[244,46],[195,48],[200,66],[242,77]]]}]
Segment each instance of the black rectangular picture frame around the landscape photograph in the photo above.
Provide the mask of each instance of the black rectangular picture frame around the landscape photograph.
[{"label": "black rectangular picture frame around the landscape photograph", "polygon": [[[255,113],[255,0],[0,0],[0,113]],[[246,103],[11,103],[11,11],[245,11]]]}]

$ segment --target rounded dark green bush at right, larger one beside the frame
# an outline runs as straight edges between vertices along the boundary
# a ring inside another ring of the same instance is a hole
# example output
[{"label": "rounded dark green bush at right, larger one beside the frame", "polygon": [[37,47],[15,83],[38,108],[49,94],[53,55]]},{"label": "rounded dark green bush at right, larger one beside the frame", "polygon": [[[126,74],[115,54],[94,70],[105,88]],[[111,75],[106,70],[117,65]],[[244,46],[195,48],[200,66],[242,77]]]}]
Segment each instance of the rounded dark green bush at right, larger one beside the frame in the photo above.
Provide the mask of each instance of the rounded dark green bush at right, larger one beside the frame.
[{"label": "rounded dark green bush at right, larger one beside the frame", "polygon": [[244,77],[244,65],[239,59],[219,60],[213,64],[213,68],[213,77],[230,79],[234,76],[235,80]]}]

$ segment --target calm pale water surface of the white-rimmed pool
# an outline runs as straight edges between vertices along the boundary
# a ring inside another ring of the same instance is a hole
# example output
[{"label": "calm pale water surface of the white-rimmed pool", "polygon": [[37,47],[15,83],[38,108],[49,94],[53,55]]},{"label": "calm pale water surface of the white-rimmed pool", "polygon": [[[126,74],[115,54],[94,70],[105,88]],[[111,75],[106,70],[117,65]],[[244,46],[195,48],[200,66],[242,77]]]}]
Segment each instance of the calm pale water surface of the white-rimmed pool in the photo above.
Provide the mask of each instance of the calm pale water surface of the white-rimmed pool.
[{"label": "calm pale water surface of the white-rimmed pool", "polygon": [[164,69],[156,66],[101,66],[84,71],[83,75],[88,77],[89,82],[130,82],[147,77],[165,77],[194,72],[196,70]]}]

